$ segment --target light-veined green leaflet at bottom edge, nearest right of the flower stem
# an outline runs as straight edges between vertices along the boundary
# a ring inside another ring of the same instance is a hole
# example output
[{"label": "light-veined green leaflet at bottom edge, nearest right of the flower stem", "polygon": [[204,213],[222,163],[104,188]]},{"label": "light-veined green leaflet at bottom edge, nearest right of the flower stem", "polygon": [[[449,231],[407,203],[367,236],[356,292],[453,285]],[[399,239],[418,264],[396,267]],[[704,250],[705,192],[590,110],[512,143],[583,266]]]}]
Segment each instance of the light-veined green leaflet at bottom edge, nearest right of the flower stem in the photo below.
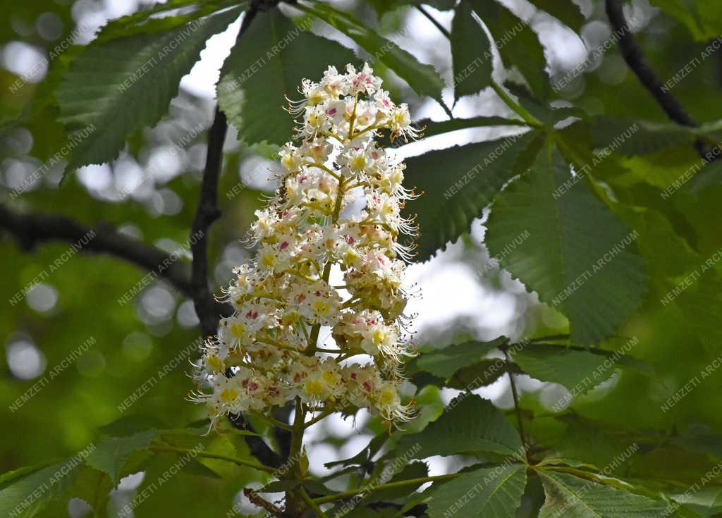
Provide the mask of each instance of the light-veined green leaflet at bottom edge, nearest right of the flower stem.
[{"label": "light-veined green leaflet at bottom edge, nearest right of the flower stem", "polygon": [[526,486],[526,466],[482,467],[431,493],[430,518],[514,518]]}]

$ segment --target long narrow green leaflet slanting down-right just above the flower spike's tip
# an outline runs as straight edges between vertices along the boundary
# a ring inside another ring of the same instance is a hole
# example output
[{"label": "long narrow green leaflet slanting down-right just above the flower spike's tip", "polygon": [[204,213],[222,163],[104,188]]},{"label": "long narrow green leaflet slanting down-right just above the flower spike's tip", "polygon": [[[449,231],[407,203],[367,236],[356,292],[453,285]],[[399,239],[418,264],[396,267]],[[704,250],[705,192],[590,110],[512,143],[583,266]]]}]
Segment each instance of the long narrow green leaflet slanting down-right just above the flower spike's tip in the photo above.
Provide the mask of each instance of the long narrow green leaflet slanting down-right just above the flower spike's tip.
[{"label": "long narrow green leaflet slanting down-right just above the flower spike's tip", "polygon": [[306,7],[304,10],[315,14],[331,27],[335,27],[354,40],[372,56],[373,60],[388,66],[409,83],[409,87],[412,87],[414,92],[428,95],[443,105],[441,89],[444,87],[444,82],[433,66],[419,63],[414,56],[399,48],[399,45],[393,41],[383,38],[352,15],[334,9],[329,4],[318,2],[313,4],[313,8]]}]

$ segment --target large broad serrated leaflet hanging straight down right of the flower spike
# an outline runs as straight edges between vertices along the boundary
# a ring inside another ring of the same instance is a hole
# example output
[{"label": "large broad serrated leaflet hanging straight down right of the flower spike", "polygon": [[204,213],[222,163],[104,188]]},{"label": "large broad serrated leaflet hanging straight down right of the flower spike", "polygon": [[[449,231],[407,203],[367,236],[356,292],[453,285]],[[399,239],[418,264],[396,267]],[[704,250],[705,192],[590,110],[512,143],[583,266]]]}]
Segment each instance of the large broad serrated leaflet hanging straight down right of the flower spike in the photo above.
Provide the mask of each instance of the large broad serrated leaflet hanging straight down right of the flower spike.
[{"label": "large broad serrated leaflet hanging straight down right of the flower spike", "polygon": [[[531,172],[497,196],[485,241],[505,269],[567,316],[570,341],[588,345],[639,307],[646,273],[636,234],[583,181],[569,180],[569,167],[547,144]],[[515,240],[521,244],[510,247]]]}]

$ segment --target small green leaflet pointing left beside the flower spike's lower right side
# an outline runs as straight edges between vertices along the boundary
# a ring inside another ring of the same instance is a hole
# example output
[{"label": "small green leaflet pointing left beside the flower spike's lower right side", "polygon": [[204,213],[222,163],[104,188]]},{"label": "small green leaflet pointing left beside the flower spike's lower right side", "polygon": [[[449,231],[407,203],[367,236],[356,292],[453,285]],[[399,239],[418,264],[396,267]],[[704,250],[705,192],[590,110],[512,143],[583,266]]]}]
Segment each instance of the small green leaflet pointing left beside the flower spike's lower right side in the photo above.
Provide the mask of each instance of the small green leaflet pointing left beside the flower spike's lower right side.
[{"label": "small green leaflet pointing left beside the flower spike's lower right side", "polygon": [[489,351],[508,342],[500,336],[490,342],[464,342],[443,349],[426,352],[409,361],[407,372],[425,371],[444,379],[451,378],[458,370],[482,360]]}]

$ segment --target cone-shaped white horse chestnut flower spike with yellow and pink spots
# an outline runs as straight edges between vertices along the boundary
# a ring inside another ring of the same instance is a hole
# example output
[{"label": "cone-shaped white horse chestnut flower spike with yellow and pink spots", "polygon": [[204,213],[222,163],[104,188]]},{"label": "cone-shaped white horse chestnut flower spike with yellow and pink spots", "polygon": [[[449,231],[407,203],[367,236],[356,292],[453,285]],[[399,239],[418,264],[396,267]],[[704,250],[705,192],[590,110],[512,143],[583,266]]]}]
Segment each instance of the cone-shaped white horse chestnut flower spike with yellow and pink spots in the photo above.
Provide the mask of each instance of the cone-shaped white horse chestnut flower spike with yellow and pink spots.
[{"label": "cone-shaped white horse chestnut flower spike with yellow and pink spots", "polygon": [[[417,133],[406,105],[380,87],[367,64],[345,74],[329,66],[320,82],[304,79],[303,100],[290,102],[298,144],[280,149],[279,188],[251,228],[258,255],[222,289],[234,315],[196,366],[193,399],[214,422],[295,398],[310,410],[412,416],[399,385],[403,357],[415,354],[401,289],[414,245],[399,236],[416,232],[400,214],[414,193],[401,185],[404,164],[375,139]],[[332,341],[319,340],[321,326]]]}]

